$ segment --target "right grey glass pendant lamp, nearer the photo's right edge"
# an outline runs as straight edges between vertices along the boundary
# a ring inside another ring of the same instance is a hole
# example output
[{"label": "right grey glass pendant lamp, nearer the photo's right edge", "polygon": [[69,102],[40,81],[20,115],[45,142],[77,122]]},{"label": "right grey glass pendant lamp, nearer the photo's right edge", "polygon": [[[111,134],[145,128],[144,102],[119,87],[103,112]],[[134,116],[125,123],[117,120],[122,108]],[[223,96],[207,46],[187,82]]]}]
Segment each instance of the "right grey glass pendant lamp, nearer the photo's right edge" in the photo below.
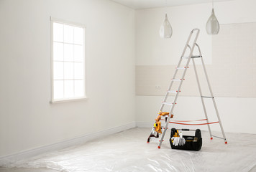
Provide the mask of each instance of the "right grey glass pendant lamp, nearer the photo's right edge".
[{"label": "right grey glass pendant lamp, nearer the photo's right edge", "polygon": [[212,1],[211,16],[206,23],[207,34],[218,34],[219,33],[219,22],[214,14],[214,0]]}]

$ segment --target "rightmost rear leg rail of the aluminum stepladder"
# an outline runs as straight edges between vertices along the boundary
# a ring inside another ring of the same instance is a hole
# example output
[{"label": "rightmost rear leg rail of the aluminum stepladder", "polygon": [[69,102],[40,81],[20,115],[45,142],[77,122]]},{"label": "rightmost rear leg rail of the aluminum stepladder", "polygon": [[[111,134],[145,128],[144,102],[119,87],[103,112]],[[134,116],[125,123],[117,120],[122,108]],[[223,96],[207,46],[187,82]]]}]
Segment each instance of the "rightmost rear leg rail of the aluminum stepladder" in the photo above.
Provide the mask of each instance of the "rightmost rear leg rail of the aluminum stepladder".
[{"label": "rightmost rear leg rail of the aluminum stepladder", "polygon": [[[197,45],[197,47],[198,47],[199,53],[201,53],[200,47],[199,47],[198,45]],[[218,110],[218,108],[217,108],[217,105],[216,105],[216,102],[215,102],[215,99],[214,99],[214,93],[213,93],[212,90],[211,90],[211,85],[210,85],[209,77],[208,77],[207,72],[206,72],[206,67],[205,67],[205,65],[204,65],[204,59],[203,59],[203,58],[201,58],[201,62],[202,62],[203,68],[204,68],[204,73],[205,73],[205,75],[206,75],[207,84],[208,84],[209,90],[210,90],[210,92],[211,92],[211,97],[213,97],[213,98],[212,98],[212,101],[214,102],[214,108],[215,108],[215,110],[216,110],[216,115],[217,115],[217,118],[218,118],[218,120],[219,120],[219,126],[220,126],[220,128],[221,128],[221,133],[222,133],[222,135],[223,135],[223,138],[224,138],[225,143],[227,143],[227,138],[226,138],[226,135],[225,135],[225,133],[224,133],[224,129],[223,129],[223,126],[222,126],[222,123],[221,123],[221,118],[220,118],[220,116],[219,116],[219,110]]]}]

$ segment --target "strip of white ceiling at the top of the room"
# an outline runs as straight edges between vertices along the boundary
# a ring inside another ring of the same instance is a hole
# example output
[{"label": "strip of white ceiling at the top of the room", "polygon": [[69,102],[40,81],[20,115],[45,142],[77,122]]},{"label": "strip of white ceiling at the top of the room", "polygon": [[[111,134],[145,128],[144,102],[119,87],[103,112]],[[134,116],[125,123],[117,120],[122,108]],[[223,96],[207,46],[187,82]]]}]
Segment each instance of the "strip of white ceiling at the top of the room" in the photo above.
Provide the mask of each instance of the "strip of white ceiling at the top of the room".
[{"label": "strip of white ceiling at the top of the room", "polygon": [[[119,4],[129,6],[132,9],[149,9],[156,7],[165,6],[180,6],[188,4],[201,4],[201,3],[211,3],[212,0],[112,0]],[[214,0],[217,1],[232,1],[232,0]]]}]

